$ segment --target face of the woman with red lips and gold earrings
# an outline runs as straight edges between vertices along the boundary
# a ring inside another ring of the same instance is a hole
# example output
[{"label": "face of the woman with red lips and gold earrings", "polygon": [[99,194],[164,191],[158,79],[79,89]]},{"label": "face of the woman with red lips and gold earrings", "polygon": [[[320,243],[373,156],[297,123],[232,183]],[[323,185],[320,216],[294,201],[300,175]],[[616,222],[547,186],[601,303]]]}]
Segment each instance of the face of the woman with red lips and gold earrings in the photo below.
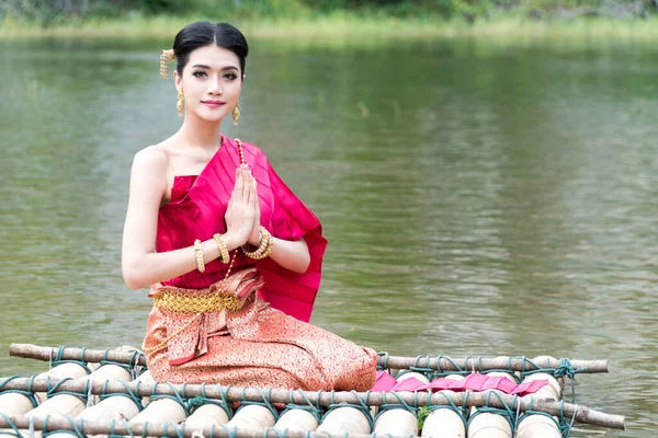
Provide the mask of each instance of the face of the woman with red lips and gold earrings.
[{"label": "face of the woman with red lips and gold earrings", "polygon": [[238,104],[242,71],[236,54],[215,45],[190,54],[182,77],[174,71],[175,88],[183,90],[185,115],[218,122]]}]

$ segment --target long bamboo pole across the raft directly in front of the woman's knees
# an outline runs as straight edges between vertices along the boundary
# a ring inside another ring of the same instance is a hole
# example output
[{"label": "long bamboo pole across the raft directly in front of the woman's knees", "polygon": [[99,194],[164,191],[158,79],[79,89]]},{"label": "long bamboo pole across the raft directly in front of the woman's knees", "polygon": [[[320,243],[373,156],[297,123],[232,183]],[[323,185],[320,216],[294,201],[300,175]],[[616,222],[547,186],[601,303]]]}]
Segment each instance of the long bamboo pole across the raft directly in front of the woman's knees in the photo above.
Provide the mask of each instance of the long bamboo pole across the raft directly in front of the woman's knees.
[{"label": "long bamboo pole across the raft directly in front of the woman's knees", "polygon": [[[1,381],[1,379],[0,379]],[[22,390],[26,391],[29,388],[30,378],[15,378],[9,380],[3,387],[3,390]],[[32,383],[32,390],[35,392],[47,391],[57,384],[58,380],[53,379],[34,379]],[[238,388],[238,387],[223,387],[219,384],[169,384],[158,383],[154,385],[140,385],[138,382],[78,382],[78,381],[65,381],[57,387],[58,391],[70,391],[87,393],[91,389],[92,394],[102,393],[133,393],[138,396],[146,396],[152,394],[160,395],[177,395],[185,394],[186,397],[195,397],[205,395],[208,399],[222,400],[223,396],[228,401],[263,401],[263,391],[258,388]],[[485,406],[487,404],[487,392],[455,392],[452,394],[434,393],[429,394],[426,392],[418,393],[399,393],[398,396],[410,406],[424,406],[428,404],[449,404],[445,395],[452,400],[456,405],[466,406]],[[390,396],[386,397],[382,392],[365,393],[365,392],[315,392],[315,391],[290,391],[290,390],[268,390],[268,399],[271,403],[295,403],[295,404],[307,404],[308,402],[314,405],[319,404],[321,406],[329,406],[334,403],[350,403],[360,404],[361,401],[370,406],[381,406],[385,402],[390,402]],[[515,401],[515,402],[514,402]],[[534,404],[534,405],[533,405]],[[575,415],[578,423],[591,424],[595,426],[611,427],[615,429],[626,429],[624,423],[624,416],[605,414],[600,411],[594,411],[587,406],[574,405],[570,403],[561,403],[549,400],[535,400],[532,399],[519,399],[511,395],[501,394],[500,400],[498,397],[490,397],[489,406],[504,408],[511,406],[512,408],[519,408],[521,412],[525,412],[531,407],[534,411],[545,412],[551,415],[560,415],[560,405],[563,405],[563,412],[565,416],[569,418]]]}]

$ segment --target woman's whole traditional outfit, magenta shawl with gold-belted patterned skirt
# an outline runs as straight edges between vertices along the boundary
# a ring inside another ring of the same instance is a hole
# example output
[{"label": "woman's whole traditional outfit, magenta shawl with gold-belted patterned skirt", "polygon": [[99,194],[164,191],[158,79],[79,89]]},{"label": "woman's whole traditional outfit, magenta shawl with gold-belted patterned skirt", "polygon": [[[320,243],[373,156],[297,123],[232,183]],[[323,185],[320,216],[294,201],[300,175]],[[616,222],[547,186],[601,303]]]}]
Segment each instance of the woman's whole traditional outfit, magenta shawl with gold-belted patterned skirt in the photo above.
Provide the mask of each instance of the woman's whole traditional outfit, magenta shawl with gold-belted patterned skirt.
[{"label": "woman's whole traditional outfit, magenta shawl with gold-belted patterned skirt", "polygon": [[[375,351],[308,323],[327,246],[319,220],[260,149],[246,142],[241,148],[258,182],[261,224],[275,238],[304,238],[310,265],[296,274],[270,258],[256,262],[238,250],[231,270],[236,274],[227,278],[228,264],[214,260],[204,273],[195,269],[152,286],[149,296],[155,306],[144,341],[152,377],[173,383],[371,389]],[[224,215],[239,165],[238,142],[223,136],[222,147],[200,175],[174,177],[171,201],[158,215],[157,252],[186,247],[195,239],[226,231]],[[179,306],[169,308],[171,302]],[[207,302],[222,309],[200,312],[205,306],[200,303]]]}]

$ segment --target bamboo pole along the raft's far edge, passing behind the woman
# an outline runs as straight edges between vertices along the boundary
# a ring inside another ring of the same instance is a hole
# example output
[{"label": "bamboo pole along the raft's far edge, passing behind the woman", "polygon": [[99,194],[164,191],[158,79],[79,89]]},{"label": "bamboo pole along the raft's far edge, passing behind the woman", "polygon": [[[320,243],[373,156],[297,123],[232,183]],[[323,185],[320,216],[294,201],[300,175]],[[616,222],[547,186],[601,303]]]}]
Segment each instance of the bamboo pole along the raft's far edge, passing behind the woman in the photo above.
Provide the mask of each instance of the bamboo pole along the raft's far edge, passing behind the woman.
[{"label": "bamboo pole along the raft's far edge, passing behind the woman", "polygon": [[[9,347],[9,355],[15,357],[24,357],[29,359],[38,360],[50,360],[55,357],[59,347],[39,347],[32,344],[11,344]],[[146,365],[146,358],[144,355],[135,357],[133,353],[118,351],[118,350],[104,350],[104,349],[86,349],[82,348],[64,348],[61,358],[65,360],[83,360],[87,362],[98,362],[103,359],[113,360],[120,364],[135,364]],[[536,362],[540,367],[546,368],[559,368],[560,361],[558,359],[546,359],[545,356],[541,356]],[[395,369],[408,369],[410,367],[430,368],[432,370],[441,369],[442,371],[460,371],[463,370],[491,370],[502,369],[512,371],[532,371],[536,369],[531,362],[535,359],[526,358],[509,358],[509,357],[463,357],[463,358],[438,358],[438,357],[402,357],[402,356],[379,356],[378,365],[386,368]],[[455,366],[455,364],[457,366]],[[570,361],[574,369],[581,370],[580,372],[598,373],[608,372],[608,360],[579,360],[574,359]]]}]

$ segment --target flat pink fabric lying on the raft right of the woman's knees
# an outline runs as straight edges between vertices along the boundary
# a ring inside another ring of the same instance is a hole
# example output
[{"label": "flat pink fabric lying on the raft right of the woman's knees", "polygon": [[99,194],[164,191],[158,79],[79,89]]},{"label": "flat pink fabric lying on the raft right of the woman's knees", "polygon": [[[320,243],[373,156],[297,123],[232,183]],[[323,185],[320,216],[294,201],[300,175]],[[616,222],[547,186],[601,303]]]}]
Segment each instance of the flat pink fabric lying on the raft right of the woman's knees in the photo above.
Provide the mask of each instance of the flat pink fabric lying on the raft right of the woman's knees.
[{"label": "flat pink fabric lying on the raft right of the woman's knees", "polygon": [[462,380],[446,379],[444,377],[424,383],[420,380],[410,377],[402,381],[397,381],[386,371],[377,371],[375,385],[371,391],[427,391],[432,392],[451,390],[455,392],[462,391],[486,391],[498,390],[506,394],[527,395],[534,394],[541,388],[548,384],[548,380],[533,380],[531,382],[514,383],[509,379],[500,376],[487,376],[477,372],[472,372]]}]

